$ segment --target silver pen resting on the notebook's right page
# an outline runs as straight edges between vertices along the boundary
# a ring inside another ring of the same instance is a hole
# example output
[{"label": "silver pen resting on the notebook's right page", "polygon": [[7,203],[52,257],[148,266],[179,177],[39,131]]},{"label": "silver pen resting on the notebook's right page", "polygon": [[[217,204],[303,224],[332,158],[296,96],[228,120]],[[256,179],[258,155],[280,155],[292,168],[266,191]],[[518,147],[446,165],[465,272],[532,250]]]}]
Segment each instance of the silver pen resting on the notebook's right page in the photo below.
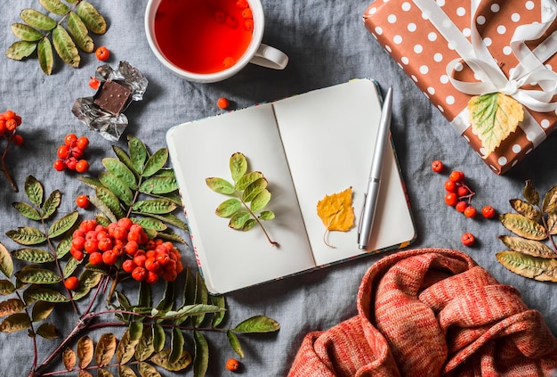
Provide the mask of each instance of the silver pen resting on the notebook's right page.
[{"label": "silver pen resting on the notebook's right page", "polygon": [[373,227],[377,198],[381,186],[381,175],[383,170],[383,154],[389,140],[389,129],[391,128],[392,114],[392,87],[389,87],[383,102],[379,131],[375,140],[375,150],[371,162],[371,172],[367,182],[367,190],[364,199],[364,209],[359,220],[358,249],[367,250],[367,242]]}]

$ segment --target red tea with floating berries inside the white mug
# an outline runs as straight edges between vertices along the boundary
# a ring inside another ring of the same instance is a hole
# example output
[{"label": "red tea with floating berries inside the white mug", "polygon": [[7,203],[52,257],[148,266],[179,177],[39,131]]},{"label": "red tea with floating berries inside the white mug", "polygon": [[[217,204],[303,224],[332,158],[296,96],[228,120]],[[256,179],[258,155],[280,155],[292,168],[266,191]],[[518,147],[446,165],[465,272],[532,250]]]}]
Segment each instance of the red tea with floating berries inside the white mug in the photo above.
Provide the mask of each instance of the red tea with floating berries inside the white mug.
[{"label": "red tea with floating berries inside the white mug", "polygon": [[246,52],[253,29],[246,0],[163,0],[154,31],[168,61],[207,74],[233,66]]}]

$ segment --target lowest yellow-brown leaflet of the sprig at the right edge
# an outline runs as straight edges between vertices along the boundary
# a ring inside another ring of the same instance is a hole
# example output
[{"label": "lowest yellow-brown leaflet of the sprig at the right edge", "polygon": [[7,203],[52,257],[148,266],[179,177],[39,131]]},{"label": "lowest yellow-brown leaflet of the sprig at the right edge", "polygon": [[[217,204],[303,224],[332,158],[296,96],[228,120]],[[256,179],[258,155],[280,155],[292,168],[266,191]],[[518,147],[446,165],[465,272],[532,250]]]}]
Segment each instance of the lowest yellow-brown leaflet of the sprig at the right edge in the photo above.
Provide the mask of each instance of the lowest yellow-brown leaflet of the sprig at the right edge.
[{"label": "lowest yellow-brown leaflet of the sprig at the right edge", "polygon": [[498,252],[496,258],[515,274],[541,282],[557,282],[557,259],[537,258],[511,250]]}]

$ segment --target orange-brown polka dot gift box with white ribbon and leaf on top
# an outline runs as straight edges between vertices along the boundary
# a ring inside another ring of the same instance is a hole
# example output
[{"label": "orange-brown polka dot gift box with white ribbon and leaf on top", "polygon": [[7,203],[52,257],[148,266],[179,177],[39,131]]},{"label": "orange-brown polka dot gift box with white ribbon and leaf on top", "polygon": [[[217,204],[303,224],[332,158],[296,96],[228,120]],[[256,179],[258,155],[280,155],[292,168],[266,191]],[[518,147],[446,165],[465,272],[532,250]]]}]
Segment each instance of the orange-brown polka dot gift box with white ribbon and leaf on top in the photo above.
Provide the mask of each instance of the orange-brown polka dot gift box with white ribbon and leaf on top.
[{"label": "orange-brown polka dot gift box with white ribbon and leaf on top", "polygon": [[504,174],[557,127],[556,15],[555,0],[376,0],[364,24]]}]

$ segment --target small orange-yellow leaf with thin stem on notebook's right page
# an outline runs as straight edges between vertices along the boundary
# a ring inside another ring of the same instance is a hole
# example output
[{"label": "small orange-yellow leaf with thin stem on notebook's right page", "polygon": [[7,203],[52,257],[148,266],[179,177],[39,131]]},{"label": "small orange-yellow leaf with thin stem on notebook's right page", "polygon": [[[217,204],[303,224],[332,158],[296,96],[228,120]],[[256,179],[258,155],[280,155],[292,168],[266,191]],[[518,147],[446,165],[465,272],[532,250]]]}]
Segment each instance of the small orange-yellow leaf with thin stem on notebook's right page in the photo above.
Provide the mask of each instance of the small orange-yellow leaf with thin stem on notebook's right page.
[{"label": "small orange-yellow leaf with thin stem on notebook's right page", "polygon": [[347,232],[354,225],[354,207],[352,207],[352,188],[349,187],[341,193],[325,195],[317,203],[317,214],[325,225],[324,242],[329,247],[325,238],[330,231]]}]

